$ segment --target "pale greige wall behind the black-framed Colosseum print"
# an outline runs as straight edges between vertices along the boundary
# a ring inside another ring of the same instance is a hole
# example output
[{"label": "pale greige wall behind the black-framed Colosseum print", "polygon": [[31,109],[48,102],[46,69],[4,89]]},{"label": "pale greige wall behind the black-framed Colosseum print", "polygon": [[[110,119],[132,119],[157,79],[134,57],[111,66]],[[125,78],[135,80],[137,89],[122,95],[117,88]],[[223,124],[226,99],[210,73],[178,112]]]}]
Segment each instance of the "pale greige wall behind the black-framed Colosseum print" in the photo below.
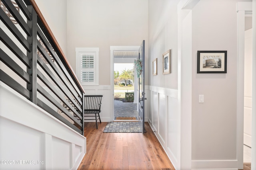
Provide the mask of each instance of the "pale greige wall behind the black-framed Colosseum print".
[{"label": "pale greige wall behind the black-framed Colosseum print", "polygon": [[[238,168],[237,12],[234,0],[192,10],[192,168]],[[198,50],[226,50],[226,74],[197,74]],[[204,103],[198,95],[204,95]],[[238,129],[239,130],[239,129]],[[242,146],[241,146],[242,147]]]}]

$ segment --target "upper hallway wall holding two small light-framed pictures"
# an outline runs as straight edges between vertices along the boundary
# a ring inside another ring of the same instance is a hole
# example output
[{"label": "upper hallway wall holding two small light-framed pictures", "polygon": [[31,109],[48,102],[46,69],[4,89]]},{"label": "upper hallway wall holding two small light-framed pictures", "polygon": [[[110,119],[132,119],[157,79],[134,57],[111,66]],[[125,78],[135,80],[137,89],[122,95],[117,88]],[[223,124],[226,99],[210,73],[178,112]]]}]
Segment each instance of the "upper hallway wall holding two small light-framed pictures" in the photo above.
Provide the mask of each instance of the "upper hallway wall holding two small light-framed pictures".
[{"label": "upper hallway wall holding two small light-framed pictures", "polygon": [[[178,88],[178,16],[179,0],[149,0],[148,81],[152,86]],[[171,49],[171,73],[162,74],[162,55]],[[152,76],[152,61],[157,58],[157,76]]]}]

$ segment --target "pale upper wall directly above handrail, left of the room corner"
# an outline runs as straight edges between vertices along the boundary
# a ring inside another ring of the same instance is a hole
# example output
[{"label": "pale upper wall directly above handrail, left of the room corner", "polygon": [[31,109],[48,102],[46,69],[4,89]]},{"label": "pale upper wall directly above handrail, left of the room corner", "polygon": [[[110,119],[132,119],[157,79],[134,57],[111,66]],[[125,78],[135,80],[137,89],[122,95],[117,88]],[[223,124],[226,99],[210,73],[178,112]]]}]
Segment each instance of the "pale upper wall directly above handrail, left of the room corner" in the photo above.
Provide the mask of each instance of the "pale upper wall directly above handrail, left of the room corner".
[{"label": "pale upper wall directly above handrail, left of the room corner", "polygon": [[35,0],[60,48],[67,55],[67,1]]}]

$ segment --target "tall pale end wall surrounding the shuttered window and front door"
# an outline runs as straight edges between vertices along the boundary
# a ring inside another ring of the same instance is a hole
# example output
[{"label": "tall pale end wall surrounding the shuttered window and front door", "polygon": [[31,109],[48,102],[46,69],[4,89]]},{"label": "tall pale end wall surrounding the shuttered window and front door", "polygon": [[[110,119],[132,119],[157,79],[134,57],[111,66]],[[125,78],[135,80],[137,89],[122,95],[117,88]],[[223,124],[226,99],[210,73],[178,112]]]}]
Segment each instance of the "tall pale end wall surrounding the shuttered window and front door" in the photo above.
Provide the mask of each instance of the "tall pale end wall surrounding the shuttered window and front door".
[{"label": "tall pale end wall surrounding the shuttered window and front door", "polygon": [[[67,35],[67,58],[74,70],[76,47],[99,47],[99,86],[84,89],[103,95],[102,121],[112,121],[110,46],[148,43],[148,0],[67,0]],[[147,62],[147,45],[145,51]]]}]

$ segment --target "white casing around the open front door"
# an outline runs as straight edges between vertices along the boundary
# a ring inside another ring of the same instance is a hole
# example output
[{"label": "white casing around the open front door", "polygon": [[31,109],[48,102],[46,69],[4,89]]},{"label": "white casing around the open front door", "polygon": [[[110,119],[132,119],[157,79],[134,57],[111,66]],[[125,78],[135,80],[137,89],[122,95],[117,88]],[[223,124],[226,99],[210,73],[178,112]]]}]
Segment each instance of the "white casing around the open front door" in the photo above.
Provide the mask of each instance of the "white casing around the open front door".
[{"label": "white casing around the open front door", "polygon": [[[138,51],[140,45],[138,46],[110,46],[110,91],[112,92],[112,97],[110,101],[110,119],[114,120],[114,51]],[[111,94],[110,92],[110,94]],[[135,93],[135,89],[134,89]],[[135,98],[134,94],[134,98]]]}]

